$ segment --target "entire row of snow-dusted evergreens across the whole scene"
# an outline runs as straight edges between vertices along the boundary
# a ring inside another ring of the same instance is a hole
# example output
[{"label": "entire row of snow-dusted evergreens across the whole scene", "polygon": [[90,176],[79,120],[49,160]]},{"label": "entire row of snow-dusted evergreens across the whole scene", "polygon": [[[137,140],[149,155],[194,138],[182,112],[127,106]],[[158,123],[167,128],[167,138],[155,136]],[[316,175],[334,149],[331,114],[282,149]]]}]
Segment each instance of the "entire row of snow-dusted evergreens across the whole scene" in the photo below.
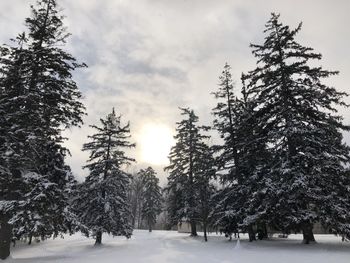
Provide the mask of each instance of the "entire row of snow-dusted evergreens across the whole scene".
[{"label": "entire row of snow-dusted evergreens across the whole scene", "polygon": [[[31,9],[27,32],[0,47],[0,258],[12,238],[31,243],[80,230],[100,244],[103,233],[129,238],[136,220],[152,231],[162,211],[159,179],[151,167],[134,177],[123,170],[135,144],[114,109],[83,145],[85,182],[66,165],[62,131],[85,114],[72,72],[86,65],[62,49],[69,34],[56,1]],[[165,168],[170,223],[189,222],[193,236],[200,223],[205,240],[214,226],[250,240],[269,228],[302,231],[308,243],[316,222],[350,238],[350,148],[342,142],[350,127],[337,114],[347,94],[324,84],[337,72],[313,66],[321,55],[296,42],[300,29],[272,14],[265,42],[251,45],[257,67],[242,75],[240,94],[225,65],[213,109],[221,145],[209,146],[211,128],[180,109]]]}]

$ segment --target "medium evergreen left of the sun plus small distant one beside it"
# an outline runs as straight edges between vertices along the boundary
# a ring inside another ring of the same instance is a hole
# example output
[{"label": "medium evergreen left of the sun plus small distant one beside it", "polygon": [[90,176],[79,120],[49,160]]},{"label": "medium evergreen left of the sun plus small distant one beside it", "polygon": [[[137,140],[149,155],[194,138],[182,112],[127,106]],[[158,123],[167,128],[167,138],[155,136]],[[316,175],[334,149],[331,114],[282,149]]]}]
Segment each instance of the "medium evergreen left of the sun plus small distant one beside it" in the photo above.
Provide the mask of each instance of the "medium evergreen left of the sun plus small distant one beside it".
[{"label": "medium evergreen left of the sun plus small distant one beside it", "polygon": [[135,184],[139,187],[140,218],[150,232],[162,209],[159,179],[152,167],[141,169],[137,176],[123,170],[135,162],[125,154],[125,149],[135,147],[129,142],[130,124],[122,124],[121,115],[117,116],[114,108],[100,122],[100,126],[91,125],[96,133],[88,136],[90,141],[83,145],[83,151],[90,152],[84,166],[90,173],[85,182],[74,188],[70,202],[77,229],[86,236],[92,235],[96,245],[102,243],[103,233],[131,237],[137,217],[133,213]]}]

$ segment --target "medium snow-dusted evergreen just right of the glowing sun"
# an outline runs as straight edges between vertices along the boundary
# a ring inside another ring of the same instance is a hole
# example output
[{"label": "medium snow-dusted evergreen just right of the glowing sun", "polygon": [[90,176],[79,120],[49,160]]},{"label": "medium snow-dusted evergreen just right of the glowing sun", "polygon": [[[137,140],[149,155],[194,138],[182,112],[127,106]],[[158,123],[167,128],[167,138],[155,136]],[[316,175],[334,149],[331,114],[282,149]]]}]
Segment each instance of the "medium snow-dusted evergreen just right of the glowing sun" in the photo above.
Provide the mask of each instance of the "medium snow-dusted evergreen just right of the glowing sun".
[{"label": "medium snow-dusted evergreen just right of the glowing sun", "polygon": [[196,224],[201,222],[198,184],[207,157],[205,140],[209,138],[201,132],[209,130],[209,127],[196,124],[198,117],[193,110],[181,111],[181,115],[186,117],[177,123],[176,144],[169,155],[170,165],[165,168],[169,172],[166,188],[169,191],[168,209],[173,223],[189,222],[191,235],[197,236]]}]

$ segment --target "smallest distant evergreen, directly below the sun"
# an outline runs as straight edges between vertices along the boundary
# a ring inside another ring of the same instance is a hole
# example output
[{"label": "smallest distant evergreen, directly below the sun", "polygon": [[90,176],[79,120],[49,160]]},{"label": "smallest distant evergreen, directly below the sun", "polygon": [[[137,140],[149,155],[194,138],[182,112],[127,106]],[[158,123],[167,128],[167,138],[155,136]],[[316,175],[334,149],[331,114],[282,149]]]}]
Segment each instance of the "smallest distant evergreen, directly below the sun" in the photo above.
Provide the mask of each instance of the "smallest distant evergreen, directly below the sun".
[{"label": "smallest distant evergreen, directly below the sun", "polygon": [[159,186],[159,179],[156,177],[156,172],[152,167],[139,172],[142,190],[142,218],[146,220],[149,232],[152,232],[152,227],[156,223],[157,215],[162,212],[162,193]]}]

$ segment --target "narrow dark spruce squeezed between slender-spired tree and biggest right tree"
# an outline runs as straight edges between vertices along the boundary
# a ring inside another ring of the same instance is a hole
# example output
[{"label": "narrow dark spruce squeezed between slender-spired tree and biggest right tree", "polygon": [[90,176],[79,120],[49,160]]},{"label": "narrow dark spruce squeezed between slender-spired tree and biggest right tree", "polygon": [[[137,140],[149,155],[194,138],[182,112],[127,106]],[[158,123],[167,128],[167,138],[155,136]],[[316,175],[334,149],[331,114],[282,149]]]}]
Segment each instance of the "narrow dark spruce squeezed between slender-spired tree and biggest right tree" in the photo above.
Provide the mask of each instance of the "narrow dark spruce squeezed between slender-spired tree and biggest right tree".
[{"label": "narrow dark spruce squeezed between slender-spired tree and biggest right tree", "polygon": [[[249,98],[246,91],[245,76],[242,75],[242,111],[240,134],[241,173],[244,180],[237,191],[236,203],[239,204],[240,229],[249,233],[250,241],[255,240],[258,231],[259,239],[267,238],[267,225],[271,223],[273,208],[265,202],[270,196],[269,178],[265,176],[271,165],[271,152],[268,148],[266,134],[257,123],[254,110],[255,101]],[[257,136],[262,135],[262,136]]]}]

